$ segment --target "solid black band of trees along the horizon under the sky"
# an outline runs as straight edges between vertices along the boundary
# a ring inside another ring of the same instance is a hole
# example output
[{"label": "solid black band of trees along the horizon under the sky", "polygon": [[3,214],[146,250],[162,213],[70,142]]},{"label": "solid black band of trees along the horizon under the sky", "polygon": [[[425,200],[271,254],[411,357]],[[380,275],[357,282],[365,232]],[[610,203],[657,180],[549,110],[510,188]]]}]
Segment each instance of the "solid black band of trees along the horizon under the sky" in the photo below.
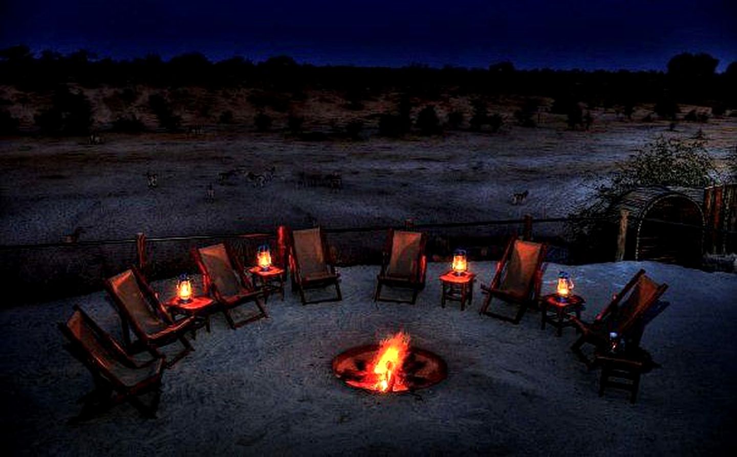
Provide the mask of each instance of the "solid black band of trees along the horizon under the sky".
[{"label": "solid black band of trees along the horizon under the sky", "polygon": [[[0,50],[0,83],[27,90],[53,88],[74,82],[83,87],[144,84],[153,87],[186,85],[268,87],[295,92],[307,86],[349,91],[352,106],[360,105],[366,91],[407,88],[412,96],[432,99],[439,89],[452,86],[458,93],[515,93],[552,96],[565,94],[579,102],[613,104],[633,99],[656,102],[668,96],[679,103],[703,104],[717,100],[734,104],[737,62],[722,74],[719,60],[709,54],[683,53],[671,58],[667,71],[518,70],[512,63],[489,68],[450,65],[403,68],[300,65],[291,57],[271,57],[260,63],[243,57],[212,62],[198,52],[164,61],[156,54],[133,60],[98,59],[80,50],[62,55],[33,54],[27,46]],[[731,85],[730,85],[731,84]]]}]

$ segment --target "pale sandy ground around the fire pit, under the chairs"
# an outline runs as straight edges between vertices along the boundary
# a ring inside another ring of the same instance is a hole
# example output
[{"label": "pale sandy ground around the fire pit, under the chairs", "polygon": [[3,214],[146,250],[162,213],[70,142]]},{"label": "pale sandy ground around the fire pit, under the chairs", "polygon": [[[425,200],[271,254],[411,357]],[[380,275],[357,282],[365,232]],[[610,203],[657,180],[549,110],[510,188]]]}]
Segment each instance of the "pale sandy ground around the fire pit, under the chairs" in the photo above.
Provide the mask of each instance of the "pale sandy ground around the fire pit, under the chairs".
[{"label": "pale sandy ground around the fire pit, under the chairs", "polygon": [[[492,263],[472,263],[487,283]],[[431,263],[416,305],[374,305],[376,266],[342,269],[344,300],[302,306],[287,291],[270,319],[230,330],[221,316],[200,330],[195,352],[164,373],[158,419],[129,405],[83,425],[66,419],[91,388],[84,367],[62,349],[55,327],[79,303],[113,334],[119,322],[102,292],[0,311],[4,408],[11,454],[28,455],[729,455],[737,441],[733,322],[737,281],[658,263],[551,264],[600,311],[639,268],[670,288],[669,308],[647,328],[643,347],[662,368],[643,375],[638,403],[624,392],[598,397],[598,372],[569,352],[575,339],[540,330],[539,313],[520,325],[441,308]],[[164,297],[172,282],[154,283]],[[413,344],[441,355],[444,382],[416,394],[368,394],[332,375],[331,359],[403,328]],[[170,348],[178,350],[178,347]]]}]

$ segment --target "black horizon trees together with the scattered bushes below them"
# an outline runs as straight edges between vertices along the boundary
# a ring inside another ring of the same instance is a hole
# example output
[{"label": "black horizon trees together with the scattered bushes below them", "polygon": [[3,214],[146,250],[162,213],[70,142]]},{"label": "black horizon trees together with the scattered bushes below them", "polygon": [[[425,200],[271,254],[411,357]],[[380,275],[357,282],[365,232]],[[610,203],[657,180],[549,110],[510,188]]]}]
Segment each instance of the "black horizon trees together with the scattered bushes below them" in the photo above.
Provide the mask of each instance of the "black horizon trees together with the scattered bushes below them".
[{"label": "black horizon trees together with the scattered bushes below them", "polygon": [[[49,133],[78,133],[90,126],[90,104],[80,91],[70,91],[69,85],[97,88],[102,85],[119,88],[115,99],[116,112],[126,112],[133,104],[135,85],[160,89],[147,100],[159,127],[178,130],[181,117],[172,110],[176,97],[186,99],[186,87],[207,89],[250,88],[248,102],[258,110],[254,118],[257,130],[269,130],[271,119],[265,110],[287,113],[290,104],[304,100],[308,89],[340,91],[344,94],[347,110],[360,111],[364,102],[388,93],[401,93],[397,109],[379,118],[382,135],[400,136],[416,127],[423,135],[434,135],[445,126],[460,128],[464,115],[449,113],[447,120],[438,118],[433,101],[443,95],[472,98],[472,116],[469,128],[475,131],[496,132],[503,124],[498,114],[489,115],[484,100],[504,94],[527,97],[514,113],[514,121],[523,127],[534,127],[539,118],[539,99],[555,100],[552,113],[565,114],[568,126],[588,128],[592,118],[587,109],[593,107],[621,107],[624,116],[631,117],[635,104],[653,103],[661,118],[675,119],[678,104],[688,103],[711,107],[719,116],[727,109],[737,108],[737,62],[716,73],[719,60],[709,54],[678,54],[669,60],[667,71],[581,71],[581,70],[519,70],[509,62],[495,63],[489,68],[461,68],[445,66],[409,65],[403,68],[315,66],[298,64],[291,57],[271,57],[254,63],[243,57],[232,57],[212,62],[203,54],[192,52],[164,61],[156,54],[132,60],[98,58],[94,53],[80,50],[71,54],[43,51],[33,54],[27,46],[13,46],[0,50],[0,85],[12,85],[29,93],[49,93],[53,107],[35,116],[41,131]],[[410,118],[411,99],[422,99],[427,105],[413,123]],[[0,102],[2,102],[0,100]],[[0,103],[1,104],[1,103]],[[209,105],[198,107],[202,116],[209,114]],[[686,121],[705,121],[702,113],[688,113]],[[234,122],[234,113],[225,111],[216,116],[221,124]],[[288,129],[301,132],[304,118],[290,113]],[[86,125],[85,125],[86,124]],[[12,118],[0,106],[0,133],[17,128]],[[125,114],[113,122],[113,128],[122,132],[144,130],[144,124],[133,114]],[[352,138],[357,137],[360,125],[346,126]]]}]

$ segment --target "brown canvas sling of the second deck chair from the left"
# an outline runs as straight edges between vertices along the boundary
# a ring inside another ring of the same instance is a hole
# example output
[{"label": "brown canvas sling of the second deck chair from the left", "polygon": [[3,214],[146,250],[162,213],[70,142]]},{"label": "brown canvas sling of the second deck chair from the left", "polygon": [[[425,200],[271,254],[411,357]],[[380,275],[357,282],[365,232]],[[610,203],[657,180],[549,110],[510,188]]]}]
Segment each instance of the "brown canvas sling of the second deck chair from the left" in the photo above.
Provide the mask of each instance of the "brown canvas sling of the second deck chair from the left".
[{"label": "brown canvas sling of the second deck chair from the left", "polygon": [[139,327],[148,335],[167,329],[167,323],[156,315],[156,312],[153,311],[153,308],[143,296],[133,270],[126,270],[111,277],[108,283],[110,283],[113,294],[118,297],[119,305],[125,307],[130,319],[135,321],[134,326]]}]

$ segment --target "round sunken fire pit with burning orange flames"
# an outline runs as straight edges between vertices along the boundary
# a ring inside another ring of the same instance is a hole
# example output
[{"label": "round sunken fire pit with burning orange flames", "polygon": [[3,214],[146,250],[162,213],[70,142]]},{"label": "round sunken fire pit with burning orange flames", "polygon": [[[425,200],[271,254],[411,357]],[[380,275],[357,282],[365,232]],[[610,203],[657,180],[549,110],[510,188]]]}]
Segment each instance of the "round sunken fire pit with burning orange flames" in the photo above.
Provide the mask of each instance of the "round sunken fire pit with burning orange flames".
[{"label": "round sunken fire pit with burning orange flames", "polygon": [[332,360],[332,371],[349,386],[381,393],[423,389],[444,380],[445,361],[409,342],[399,332],[380,344],[353,347]]}]

